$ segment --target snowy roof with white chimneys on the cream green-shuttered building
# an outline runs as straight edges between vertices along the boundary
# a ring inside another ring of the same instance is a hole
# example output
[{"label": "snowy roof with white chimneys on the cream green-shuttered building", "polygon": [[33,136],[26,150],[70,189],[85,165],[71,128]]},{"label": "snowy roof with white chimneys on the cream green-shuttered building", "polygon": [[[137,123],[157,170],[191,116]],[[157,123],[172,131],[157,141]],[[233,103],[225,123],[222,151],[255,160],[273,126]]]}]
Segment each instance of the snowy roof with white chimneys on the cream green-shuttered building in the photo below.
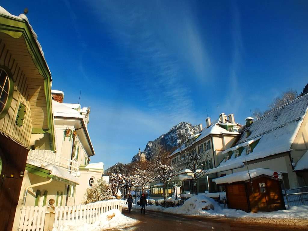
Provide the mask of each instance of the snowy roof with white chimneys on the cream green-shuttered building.
[{"label": "snowy roof with white chimneys on the cream green-shuttered building", "polygon": [[[220,125],[235,125],[235,124],[231,124],[228,121],[226,121],[225,123],[221,123],[220,119],[215,120],[214,122],[211,123],[211,125],[208,128],[203,128],[201,132],[199,132],[198,134],[195,134],[192,137],[189,138],[193,138],[196,137],[197,135],[198,138],[196,139],[195,142],[198,142],[199,140],[202,140],[203,138],[211,135],[211,134],[216,134],[216,135],[220,135],[220,134],[232,134],[232,135],[238,135],[240,133],[238,132],[229,132],[228,130],[226,130],[225,128],[222,128]],[[185,150],[186,148],[184,148],[184,144],[176,149],[174,152],[172,152],[172,154],[170,156],[173,156],[174,154],[181,152],[182,150]]]}]

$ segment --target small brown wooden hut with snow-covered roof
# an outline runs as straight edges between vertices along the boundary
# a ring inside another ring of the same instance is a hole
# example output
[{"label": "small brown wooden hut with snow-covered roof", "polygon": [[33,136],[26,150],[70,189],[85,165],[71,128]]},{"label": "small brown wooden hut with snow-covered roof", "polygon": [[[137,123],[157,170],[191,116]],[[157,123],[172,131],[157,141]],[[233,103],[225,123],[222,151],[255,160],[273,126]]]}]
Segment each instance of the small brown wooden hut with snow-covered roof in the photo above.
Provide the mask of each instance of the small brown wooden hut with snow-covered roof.
[{"label": "small brown wooden hut with snow-covered roof", "polygon": [[236,172],[214,179],[226,188],[229,209],[265,212],[286,209],[282,196],[281,177],[264,168]]}]

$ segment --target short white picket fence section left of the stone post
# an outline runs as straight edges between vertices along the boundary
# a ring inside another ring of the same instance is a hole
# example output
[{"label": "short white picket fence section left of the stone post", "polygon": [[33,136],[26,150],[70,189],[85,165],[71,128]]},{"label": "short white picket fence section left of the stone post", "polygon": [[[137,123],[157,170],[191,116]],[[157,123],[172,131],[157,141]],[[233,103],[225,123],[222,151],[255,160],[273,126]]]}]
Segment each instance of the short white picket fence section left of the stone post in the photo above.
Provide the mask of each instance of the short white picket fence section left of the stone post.
[{"label": "short white picket fence section left of the stone post", "polygon": [[45,213],[46,206],[22,207],[18,231],[43,231]]}]

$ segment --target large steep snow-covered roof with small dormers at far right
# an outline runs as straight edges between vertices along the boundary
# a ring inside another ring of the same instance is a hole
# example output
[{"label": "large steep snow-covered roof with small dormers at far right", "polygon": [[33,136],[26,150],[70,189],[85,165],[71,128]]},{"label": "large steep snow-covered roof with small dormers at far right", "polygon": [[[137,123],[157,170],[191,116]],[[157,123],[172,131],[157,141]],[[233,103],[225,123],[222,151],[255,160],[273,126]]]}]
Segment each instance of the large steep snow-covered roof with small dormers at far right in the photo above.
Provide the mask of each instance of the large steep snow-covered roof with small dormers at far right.
[{"label": "large steep snow-covered roof with small dormers at far right", "polygon": [[[270,112],[269,114],[254,121],[249,127],[243,129],[242,135],[233,148],[226,150],[234,151],[239,147],[245,147],[250,143],[259,140],[256,147],[249,155],[243,150],[241,156],[235,158],[235,154],[220,166],[232,164],[234,162],[245,162],[256,160],[290,151],[291,145],[298,134],[304,116],[308,109],[308,94],[303,95],[292,102]],[[250,131],[247,137],[246,130]]]}]

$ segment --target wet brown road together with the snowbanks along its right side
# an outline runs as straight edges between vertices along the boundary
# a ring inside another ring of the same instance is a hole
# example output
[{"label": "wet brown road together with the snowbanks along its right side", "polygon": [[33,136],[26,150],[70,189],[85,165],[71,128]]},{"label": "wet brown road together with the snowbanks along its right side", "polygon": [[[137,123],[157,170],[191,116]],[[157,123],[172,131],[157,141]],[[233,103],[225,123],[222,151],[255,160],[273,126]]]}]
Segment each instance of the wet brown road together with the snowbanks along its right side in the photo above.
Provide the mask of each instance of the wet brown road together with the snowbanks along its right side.
[{"label": "wet brown road together with the snowbanks along its right side", "polygon": [[[125,202],[123,205],[125,207]],[[191,197],[179,207],[150,205],[146,207],[146,214],[143,215],[140,214],[140,206],[133,205],[131,213],[128,213],[127,208],[122,210],[122,213],[139,223],[121,230],[282,231],[307,230],[308,227],[308,206],[293,206],[289,210],[275,212],[246,213],[235,209],[221,209],[215,201],[202,194]]]}]

